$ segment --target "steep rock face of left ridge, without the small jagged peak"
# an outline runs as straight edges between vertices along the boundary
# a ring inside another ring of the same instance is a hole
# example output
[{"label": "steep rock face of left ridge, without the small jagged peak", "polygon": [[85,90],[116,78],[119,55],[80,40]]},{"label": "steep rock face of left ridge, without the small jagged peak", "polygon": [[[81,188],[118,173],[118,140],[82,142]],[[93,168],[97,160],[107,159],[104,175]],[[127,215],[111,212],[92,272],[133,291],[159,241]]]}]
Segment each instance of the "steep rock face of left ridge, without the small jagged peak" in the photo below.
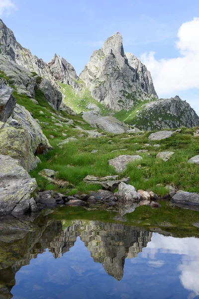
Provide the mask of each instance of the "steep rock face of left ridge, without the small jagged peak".
[{"label": "steep rock face of left ridge, without the small jagged peak", "polygon": [[0,69],[13,79],[18,92],[34,98],[36,87],[58,110],[62,94],[57,89],[56,79],[49,66],[42,59],[33,56],[28,49],[23,48],[2,20],[0,20],[0,50]]}]

